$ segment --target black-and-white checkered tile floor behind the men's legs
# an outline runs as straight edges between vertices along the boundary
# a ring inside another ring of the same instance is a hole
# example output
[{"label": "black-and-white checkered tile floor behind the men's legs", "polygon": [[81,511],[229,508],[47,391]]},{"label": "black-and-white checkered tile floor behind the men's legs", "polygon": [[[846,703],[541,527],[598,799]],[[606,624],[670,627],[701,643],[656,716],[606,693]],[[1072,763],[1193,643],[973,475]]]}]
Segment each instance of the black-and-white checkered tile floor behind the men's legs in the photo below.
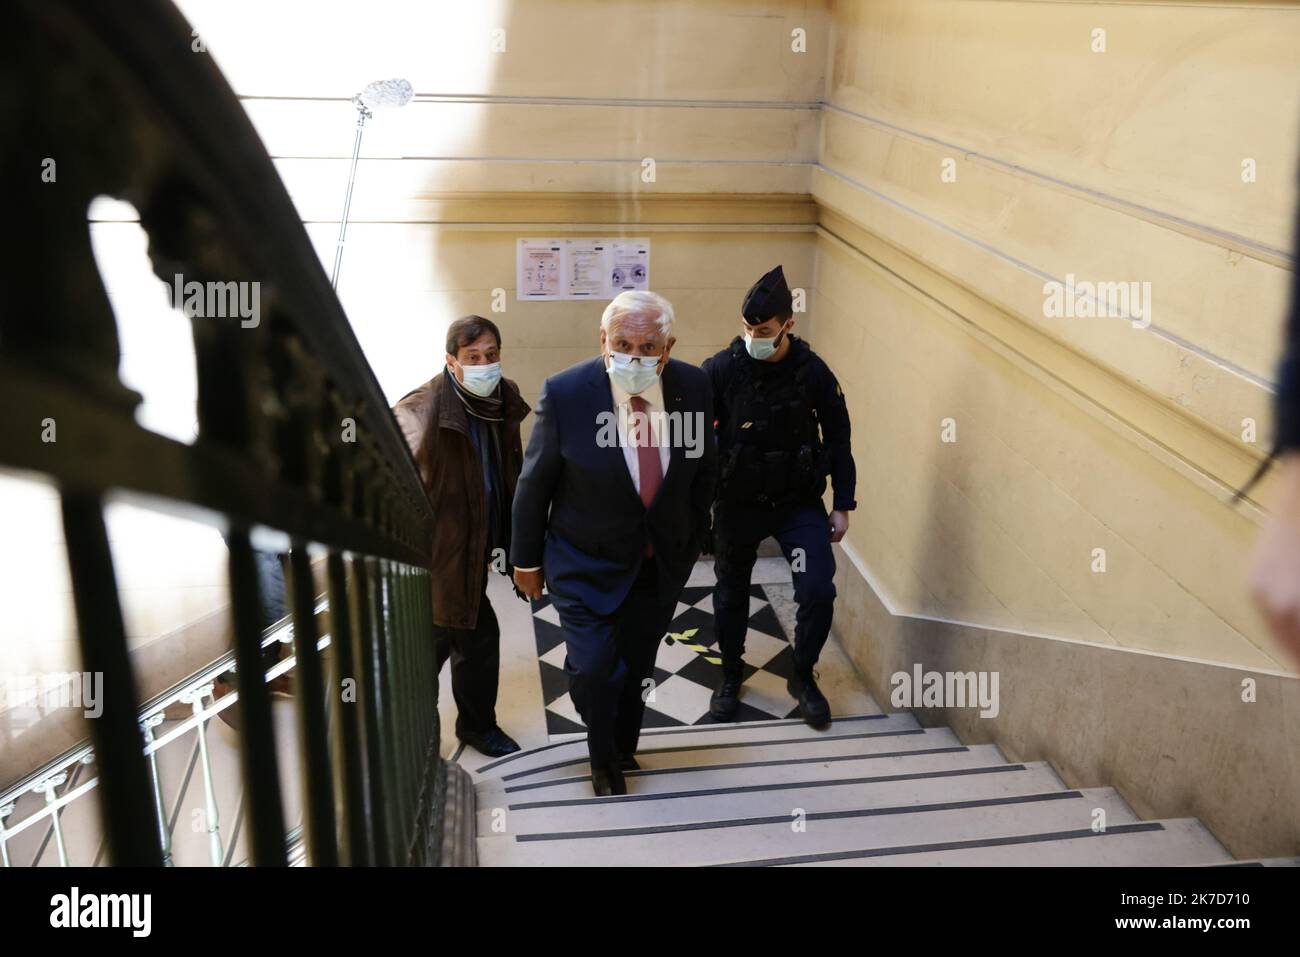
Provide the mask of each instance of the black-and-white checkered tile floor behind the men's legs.
[{"label": "black-and-white checkered tile floor behind the men's legs", "polygon": [[[736,720],[796,718],[798,707],[785,690],[793,674],[789,641],[767,601],[762,585],[750,586],[749,631],[745,635],[745,685]],[[685,588],[677,614],[655,659],[654,697],[646,702],[642,727],[714,724],[708,715],[708,696],[718,683],[722,659],[714,635],[714,589]],[[564,675],[564,633],[559,612],[549,596],[532,602],[533,633],[537,638],[538,667],[542,671],[542,697],[546,702],[546,729],[554,739],[585,733],[582,720],[568,694]]]}]

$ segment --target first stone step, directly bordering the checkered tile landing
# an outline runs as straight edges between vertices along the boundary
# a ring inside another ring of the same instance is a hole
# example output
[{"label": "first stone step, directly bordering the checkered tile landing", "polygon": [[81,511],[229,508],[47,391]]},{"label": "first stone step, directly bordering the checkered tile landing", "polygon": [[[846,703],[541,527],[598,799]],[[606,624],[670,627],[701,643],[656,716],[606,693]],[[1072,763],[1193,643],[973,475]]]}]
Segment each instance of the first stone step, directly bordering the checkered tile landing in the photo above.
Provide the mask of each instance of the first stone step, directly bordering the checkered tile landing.
[{"label": "first stone step, directly bordering the checkered tile landing", "polygon": [[[897,714],[858,714],[837,716],[835,723],[824,729],[815,731],[800,719],[779,719],[772,722],[738,722],[734,724],[699,724],[681,728],[649,728],[641,732],[641,745],[638,754],[649,750],[664,750],[670,748],[693,748],[699,745],[727,744],[734,741],[783,741],[783,740],[810,740],[838,735],[855,735],[870,731],[902,731],[919,728],[916,719],[906,713]],[[504,778],[517,775],[521,771],[530,771],[549,765],[567,761],[586,762],[586,737],[576,737],[569,741],[556,741],[540,748],[515,752],[504,758],[497,758],[471,768],[476,780],[485,778]]]}]

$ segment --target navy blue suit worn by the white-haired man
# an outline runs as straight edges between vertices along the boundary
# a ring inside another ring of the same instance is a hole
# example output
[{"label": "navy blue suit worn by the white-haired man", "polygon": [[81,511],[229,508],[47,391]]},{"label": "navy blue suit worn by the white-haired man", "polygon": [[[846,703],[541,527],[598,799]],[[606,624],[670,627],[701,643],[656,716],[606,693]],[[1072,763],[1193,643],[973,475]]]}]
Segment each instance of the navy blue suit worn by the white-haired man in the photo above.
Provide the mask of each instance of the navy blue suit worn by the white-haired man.
[{"label": "navy blue suit worn by the white-haired man", "polygon": [[[546,380],[515,489],[510,560],[541,566],[564,629],[569,694],[593,762],[632,753],[645,711],[642,683],[708,531],[716,452],[705,373],[670,359],[664,410],[690,419],[672,443],[663,485],[641,502],[623,449],[601,442],[615,411],[599,356]],[[606,432],[606,436],[610,433]],[[667,439],[666,439],[667,441]],[[698,454],[697,454],[698,452]],[[646,546],[654,546],[646,557]]]}]

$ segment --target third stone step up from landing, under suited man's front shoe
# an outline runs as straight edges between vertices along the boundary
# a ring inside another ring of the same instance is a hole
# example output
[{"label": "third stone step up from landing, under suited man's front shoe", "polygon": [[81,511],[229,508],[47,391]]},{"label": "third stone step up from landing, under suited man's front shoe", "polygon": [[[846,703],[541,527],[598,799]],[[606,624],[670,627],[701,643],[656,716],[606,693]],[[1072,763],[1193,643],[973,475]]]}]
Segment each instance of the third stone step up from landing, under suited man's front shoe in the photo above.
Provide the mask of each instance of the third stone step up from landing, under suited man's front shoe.
[{"label": "third stone step up from landing, under suited man's front shoe", "polygon": [[[909,740],[909,739],[904,739]],[[663,794],[668,792],[705,791],[708,788],[760,787],[783,783],[826,781],[837,778],[866,778],[906,774],[909,771],[937,771],[959,767],[991,767],[1009,763],[996,745],[948,745],[930,748],[902,746],[892,752],[841,755],[840,758],[784,758],[758,763],[727,763],[724,766],[699,765],[682,768],[660,768],[628,772],[628,796]],[[582,774],[555,780],[480,781],[476,788],[478,807],[495,809],[521,801],[572,801],[594,798],[592,775],[584,766]]]}]

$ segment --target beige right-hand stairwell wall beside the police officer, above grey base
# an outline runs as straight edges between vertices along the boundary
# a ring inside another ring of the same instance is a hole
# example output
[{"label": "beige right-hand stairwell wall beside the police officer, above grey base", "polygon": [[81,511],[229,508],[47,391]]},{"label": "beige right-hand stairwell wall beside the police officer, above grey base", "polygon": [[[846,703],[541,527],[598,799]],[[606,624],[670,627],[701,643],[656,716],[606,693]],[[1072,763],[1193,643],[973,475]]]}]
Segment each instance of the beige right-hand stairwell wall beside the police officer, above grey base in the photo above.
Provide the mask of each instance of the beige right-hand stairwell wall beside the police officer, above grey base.
[{"label": "beige right-hand stairwell wall beside the police officer, above grey base", "polygon": [[[1269,442],[1300,8],[876,0],[833,34],[812,326],[858,384],[848,542],[881,598],[1290,670],[1227,499]],[[1149,282],[1149,328],[1046,316],[1070,273]]]}]

